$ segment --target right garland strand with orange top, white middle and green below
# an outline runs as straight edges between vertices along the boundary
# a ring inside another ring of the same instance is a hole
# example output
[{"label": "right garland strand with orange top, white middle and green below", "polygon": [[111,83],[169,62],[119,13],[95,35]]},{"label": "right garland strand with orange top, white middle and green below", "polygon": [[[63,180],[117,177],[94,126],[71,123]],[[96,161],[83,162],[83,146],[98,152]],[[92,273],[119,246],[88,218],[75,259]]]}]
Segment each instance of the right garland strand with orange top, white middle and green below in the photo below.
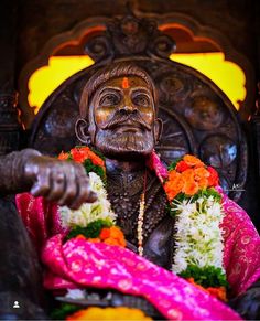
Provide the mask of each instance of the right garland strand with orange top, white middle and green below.
[{"label": "right garland strand with orange top, white middle and green below", "polygon": [[219,228],[224,212],[221,197],[214,189],[218,183],[218,174],[212,167],[186,154],[170,165],[163,186],[170,213],[175,217],[173,271],[226,300],[228,285]]}]

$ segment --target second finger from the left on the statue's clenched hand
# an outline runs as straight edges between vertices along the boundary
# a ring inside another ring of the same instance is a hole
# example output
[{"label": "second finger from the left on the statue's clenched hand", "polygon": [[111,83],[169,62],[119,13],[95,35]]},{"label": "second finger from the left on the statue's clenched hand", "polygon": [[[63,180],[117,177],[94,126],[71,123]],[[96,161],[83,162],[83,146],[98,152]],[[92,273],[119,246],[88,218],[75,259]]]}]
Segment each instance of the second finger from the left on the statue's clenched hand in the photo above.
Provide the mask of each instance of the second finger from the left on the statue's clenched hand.
[{"label": "second finger from the left on the statue's clenched hand", "polygon": [[54,170],[51,176],[52,185],[46,199],[48,201],[59,201],[63,197],[66,188],[65,173]]}]

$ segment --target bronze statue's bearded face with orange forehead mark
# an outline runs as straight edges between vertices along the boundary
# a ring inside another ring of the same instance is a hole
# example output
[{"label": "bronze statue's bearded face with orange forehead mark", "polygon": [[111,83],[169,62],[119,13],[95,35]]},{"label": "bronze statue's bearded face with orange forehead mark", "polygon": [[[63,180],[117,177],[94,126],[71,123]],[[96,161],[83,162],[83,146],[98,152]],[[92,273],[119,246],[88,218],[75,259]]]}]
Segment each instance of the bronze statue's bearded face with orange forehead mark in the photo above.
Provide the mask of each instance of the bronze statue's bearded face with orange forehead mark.
[{"label": "bronze statue's bearded face with orange forehead mark", "polygon": [[154,117],[153,96],[142,78],[110,79],[89,106],[91,142],[107,157],[147,156],[155,145]]}]

